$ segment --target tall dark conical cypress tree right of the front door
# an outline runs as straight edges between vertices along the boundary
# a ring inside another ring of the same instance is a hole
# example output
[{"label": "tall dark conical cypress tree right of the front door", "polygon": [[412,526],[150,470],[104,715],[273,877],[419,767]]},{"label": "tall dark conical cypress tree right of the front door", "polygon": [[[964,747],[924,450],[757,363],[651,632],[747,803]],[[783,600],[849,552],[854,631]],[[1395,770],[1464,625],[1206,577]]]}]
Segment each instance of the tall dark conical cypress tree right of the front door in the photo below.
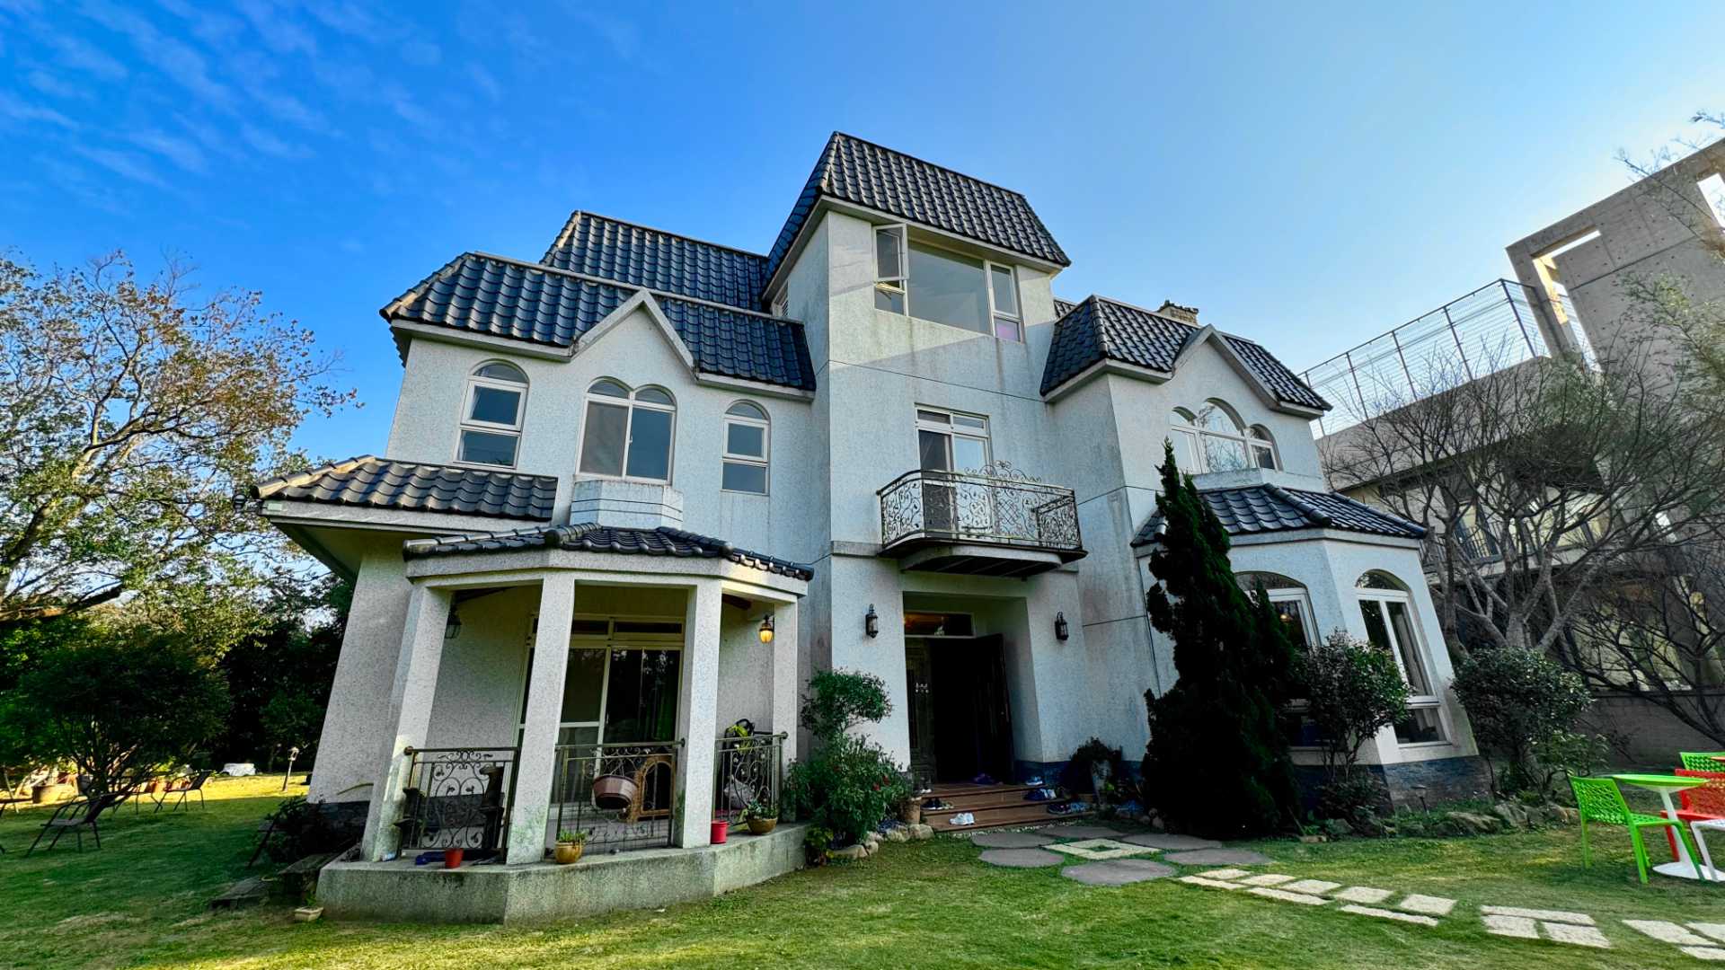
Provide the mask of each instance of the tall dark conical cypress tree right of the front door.
[{"label": "tall dark conical cypress tree right of the front door", "polygon": [[1168,825],[1240,837],[1297,820],[1294,766],[1276,716],[1294,687],[1294,644],[1264,595],[1240,590],[1228,532],[1164,445],[1151,554],[1151,625],[1175,642],[1180,678],[1145,692],[1151,744],[1145,790]]}]

